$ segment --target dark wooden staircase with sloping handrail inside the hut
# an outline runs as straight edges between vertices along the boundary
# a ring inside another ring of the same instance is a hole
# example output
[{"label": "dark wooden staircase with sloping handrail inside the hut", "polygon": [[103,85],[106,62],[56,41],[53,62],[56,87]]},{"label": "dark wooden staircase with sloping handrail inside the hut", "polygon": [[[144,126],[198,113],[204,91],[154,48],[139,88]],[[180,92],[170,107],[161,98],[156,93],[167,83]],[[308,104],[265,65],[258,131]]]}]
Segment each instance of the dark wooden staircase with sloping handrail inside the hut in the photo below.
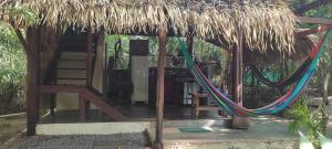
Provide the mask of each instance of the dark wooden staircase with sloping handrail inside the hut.
[{"label": "dark wooden staircase with sloping handrail inside the hut", "polygon": [[[107,98],[87,85],[89,53],[87,35],[65,34],[61,38],[59,56],[54,70],[54,83],[40,86],[41,93],[74,93],[79,95],[80,119],[87,118],[90,103],[114,120],[125,120]],[[94,55],[92,55],[94,56]],[[93,57],[91,57],[93,60]],[[93,68],[92,68],[93,70]]]}]

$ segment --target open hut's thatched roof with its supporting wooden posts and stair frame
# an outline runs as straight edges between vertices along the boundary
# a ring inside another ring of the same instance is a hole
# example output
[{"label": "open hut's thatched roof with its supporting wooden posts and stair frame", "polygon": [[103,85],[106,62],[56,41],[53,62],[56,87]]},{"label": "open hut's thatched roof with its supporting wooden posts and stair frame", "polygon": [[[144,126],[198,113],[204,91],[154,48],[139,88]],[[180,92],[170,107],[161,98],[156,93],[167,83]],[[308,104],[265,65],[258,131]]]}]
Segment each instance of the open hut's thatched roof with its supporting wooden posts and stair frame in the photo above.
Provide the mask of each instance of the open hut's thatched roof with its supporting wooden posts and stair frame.
[{"label": "open hut's thatched roof with its supporting wooden posts and stair frame", "polygon": [[[28,55],[28,135],[35,134],[40,102],[45,97],[42,94],[51,96],[48,100],[51,114],[54,113],[54,96],[58,93],[74,93],[79,95],[81,119],[86,118],[89,105],[92,103],[115,120],[131,120],[113,105],[107,104],[93,87],[93,67],[96,64],[93,56],[97,49],[103,49],[105,32],[158,36],[156,147],[162,146],[163,140],[164,60],[167,36],[187,38],[189,52],[193,51],[194,38],[229,50],[234,58],[231,93],[238,104],[242,102],[243,51],[251,53],[250,60],[259,55],[266,56],[261,53],[284,56],[302,52],[294,46],[299,39],[295,38],[299,18],[282,0],[4,0],[0,2],[0,8],[3,8],[1,20],[13,25]],[[31,22],[27,15],[10,14],[13,9],[28,10],[29,14],[37,19]],[[305,21],[305,18],[301,20]],[[66,39],[69,36],[63,33],[70,28],[84,32],[80,34],[81,38],[76,35],[76,43],[70,42]],[[20,29],[27,29],[25,38]],[[61,42],[80,44],[86,50],[86,61],[77,61],[87,66],[85,85],[56,85],[54,74],[62,52]]]}]

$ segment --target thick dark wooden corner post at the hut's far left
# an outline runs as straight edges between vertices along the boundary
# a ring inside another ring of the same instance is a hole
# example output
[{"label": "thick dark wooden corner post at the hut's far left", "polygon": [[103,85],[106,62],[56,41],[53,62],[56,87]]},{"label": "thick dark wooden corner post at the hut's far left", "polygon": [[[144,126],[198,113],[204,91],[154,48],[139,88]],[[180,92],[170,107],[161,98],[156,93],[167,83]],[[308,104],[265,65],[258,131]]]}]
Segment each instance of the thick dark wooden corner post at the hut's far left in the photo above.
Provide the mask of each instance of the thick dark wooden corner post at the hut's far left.
[{"label": "thick dark wooden corner post at the hut's far left", "polygon": [[39,32],[37,26],[27,30],[27,135],[35,135],[35,126],[39,120]]}]

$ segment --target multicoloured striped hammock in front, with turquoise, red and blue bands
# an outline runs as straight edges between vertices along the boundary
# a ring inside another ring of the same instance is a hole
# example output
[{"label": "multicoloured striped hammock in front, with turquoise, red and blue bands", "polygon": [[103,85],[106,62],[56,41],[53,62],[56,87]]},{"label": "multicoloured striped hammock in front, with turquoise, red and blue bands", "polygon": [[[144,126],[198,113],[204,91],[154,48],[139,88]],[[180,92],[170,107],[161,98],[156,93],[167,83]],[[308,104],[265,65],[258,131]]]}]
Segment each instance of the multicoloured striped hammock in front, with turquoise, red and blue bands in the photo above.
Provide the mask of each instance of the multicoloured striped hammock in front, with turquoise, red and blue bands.
[{"label": "multicoloured striped hammock in front, with turquoise, red and blue bands", "polygon": [[313,51],[314,54],[311,54],[312,62],[309,66],[307,66],[303,75],[300,77],[300,79],[295,83],[294,86],[292,86],[289,92],[287,92],[282,97],[276,99],[273,103],[256,109],[249,109],[243,106],[240,106],[232,102],[227,94],[218,91],[205,76],[205,74],[199,70],[199,67],[195,64],[193,57],[187,51],[187,45],[184,41],[181,41],[178,38],[180,52],[184,54],[186,60],[186,65],[190,70],[191,74],[196,78],[197,83],[201,88],[204,88],[208,96],[216,99],[218,103],[218,106],[220,106],[222,109],[228,111],[231,115],[240,116],[240,117],[256,117],[261,115],[271,115],[276,114],[282,109],[284,109],[287,106],[289,106],[291,103],[297,100],[297,98],[300,96],[301,92],[305,88],[305,86],[309,84],[310,79],[312,78],[317,64],[319,62],[319,57],[325,47],[326,42],[329,41],[331,36],[332,31],[329,30],[326,34],[320,40],[318,45],[314,47]]}]

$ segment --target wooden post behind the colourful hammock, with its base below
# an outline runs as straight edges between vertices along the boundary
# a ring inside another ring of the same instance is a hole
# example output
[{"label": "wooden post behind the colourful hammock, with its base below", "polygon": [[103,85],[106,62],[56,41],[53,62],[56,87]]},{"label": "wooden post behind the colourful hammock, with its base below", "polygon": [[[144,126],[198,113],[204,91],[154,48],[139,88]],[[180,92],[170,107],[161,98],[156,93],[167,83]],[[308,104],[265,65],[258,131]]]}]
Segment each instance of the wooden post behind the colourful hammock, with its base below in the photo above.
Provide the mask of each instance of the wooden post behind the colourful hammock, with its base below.
[{"label": "wooden post behind the colourful hammock, with its base below", "polygon": [[[234,100],[242,106],[243,97],[243,32],[238,30],[238,45],[232,50],[232,97]],[[232,128],[248,129],[249,119],[234,116],[231,120]]]}]

